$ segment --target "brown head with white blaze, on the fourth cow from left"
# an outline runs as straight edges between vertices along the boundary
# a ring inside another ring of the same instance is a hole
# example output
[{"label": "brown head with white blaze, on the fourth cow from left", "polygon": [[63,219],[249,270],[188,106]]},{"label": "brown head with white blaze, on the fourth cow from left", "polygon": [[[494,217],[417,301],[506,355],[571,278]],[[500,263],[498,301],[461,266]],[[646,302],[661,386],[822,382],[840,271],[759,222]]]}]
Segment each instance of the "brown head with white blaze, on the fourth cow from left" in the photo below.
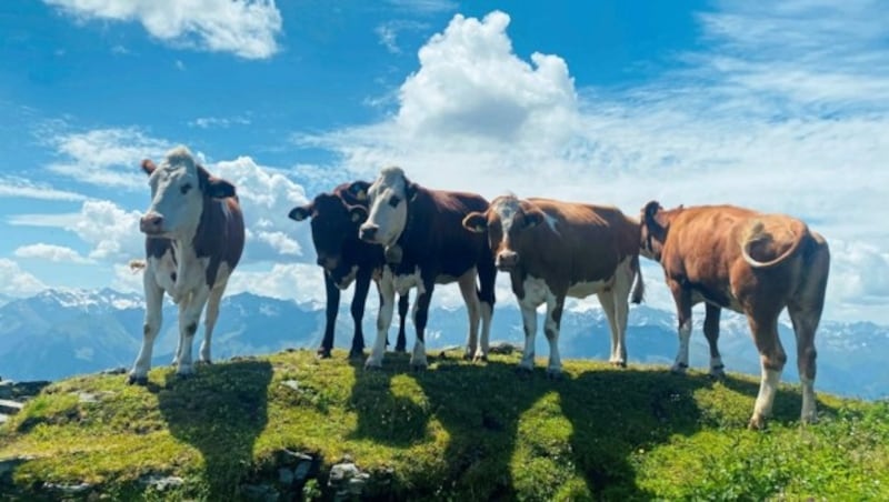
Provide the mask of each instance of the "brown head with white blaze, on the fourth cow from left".
[{"label": "brown head with white blaze, on the fourth cow from left", "polygon": [[531,239],[529,230],[546,220],[546,214],[535,204],[515,195],[498,197],[485,212],[471,212],[463,218],[463,227],[477,233],[488,232],[495,264],[499,270],[511,271],[519,265],[518,250]]}]

